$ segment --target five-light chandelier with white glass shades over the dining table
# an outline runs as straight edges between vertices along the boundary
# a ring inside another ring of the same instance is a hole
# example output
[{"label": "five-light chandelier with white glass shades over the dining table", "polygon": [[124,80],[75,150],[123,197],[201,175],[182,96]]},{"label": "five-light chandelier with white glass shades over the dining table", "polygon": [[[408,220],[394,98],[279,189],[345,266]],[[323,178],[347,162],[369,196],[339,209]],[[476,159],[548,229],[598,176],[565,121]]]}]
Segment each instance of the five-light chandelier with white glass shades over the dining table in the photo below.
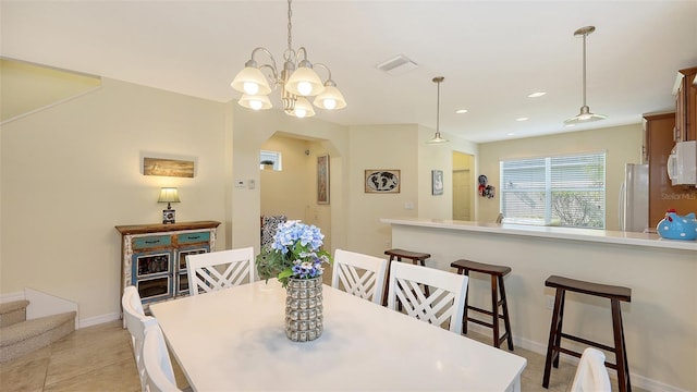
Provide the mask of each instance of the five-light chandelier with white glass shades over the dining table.
[{"label": "five-light chandelier with white glass shades over the dining table", "polygon": [[[313,69],[313,63],[307,60],[307,50],[304,47],[293,49],[291,2],[292,0],[288,1],[288,49],[283,52],[283,69],[279,70],[273,56],[267,48],[254,49],[252,58],[244,64],[244,70],[240,71],[230,84],[232,88],[243,93],[237,103],[253,110],[270,109],[272,105],[269,94],[280,88],[283,111],[289,115],[296,118],[315,115],[308,97],[315,97],[313,103],[320,109],[345,108],[346,100],[331,78],[329,68],[321,63],[315,64],[328,73],[327,81],[322,83]],[[255,56],[259,52],[268,54],[270,63],[259,65],[255,60]],[[262,69],[267,69],[270,74],[265,76]]]}]

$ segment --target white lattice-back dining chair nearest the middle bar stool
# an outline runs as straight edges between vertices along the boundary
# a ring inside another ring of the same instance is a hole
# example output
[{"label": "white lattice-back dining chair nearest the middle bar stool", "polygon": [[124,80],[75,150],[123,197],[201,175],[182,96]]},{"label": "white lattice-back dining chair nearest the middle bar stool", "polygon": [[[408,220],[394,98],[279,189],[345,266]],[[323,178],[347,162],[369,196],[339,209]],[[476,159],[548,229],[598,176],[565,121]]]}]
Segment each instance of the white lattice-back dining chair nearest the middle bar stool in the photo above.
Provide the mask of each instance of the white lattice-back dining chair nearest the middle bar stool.
[{"label": "white lattice-back dining chair nearest the middle bar stool", "polygon": [[[428,294],[421,285],[429,286]],[[390,267],[388,308],[395,309],[399,303],[408,316],[441,328],[449,324],[457,334],[462,333],[466,293],[466,275],[406,262]]]}]

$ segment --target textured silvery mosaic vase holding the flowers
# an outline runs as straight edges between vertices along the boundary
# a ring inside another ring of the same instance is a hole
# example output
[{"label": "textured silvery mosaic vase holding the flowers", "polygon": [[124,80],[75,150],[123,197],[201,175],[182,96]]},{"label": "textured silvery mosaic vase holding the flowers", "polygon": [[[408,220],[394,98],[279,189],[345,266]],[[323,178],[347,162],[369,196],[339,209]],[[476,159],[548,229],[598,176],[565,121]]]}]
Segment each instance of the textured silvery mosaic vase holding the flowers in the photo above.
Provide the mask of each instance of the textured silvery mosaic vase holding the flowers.
[{"label": "textured silvery mosaic vase holding the flowers", "polygon": [[288,280],[285,335],[309,342],[322,334],[322,277]]}]

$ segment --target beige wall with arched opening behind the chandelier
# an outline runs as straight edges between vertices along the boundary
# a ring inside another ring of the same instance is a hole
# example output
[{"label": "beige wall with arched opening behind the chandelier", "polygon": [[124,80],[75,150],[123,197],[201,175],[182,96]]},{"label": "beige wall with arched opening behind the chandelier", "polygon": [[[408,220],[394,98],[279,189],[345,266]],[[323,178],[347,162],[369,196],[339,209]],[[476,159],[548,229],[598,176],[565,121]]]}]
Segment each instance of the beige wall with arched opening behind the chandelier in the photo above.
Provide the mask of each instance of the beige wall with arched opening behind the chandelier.
[{"label": "beige wall with arched opening behind the chandelier", "polygon": [[[331,235],[327,241],[332,243],[332,246],[343,246],[346,237],[346,224],[343,221],[346,206],[344,205],[345,197],[343,197],[345,191],[342,187],[342,184],[345,183],[342,159],[347,156],[348,150],[347,128],[316,119],[298,120],[285,115],[279,110],[255,112],[234,105],[233,112],[233,179],[245,182],[254,180],[259,184],[261,174],[259,151],[274,134],[309,140],[310,156],[309,158],[303,156],[311,160],[304,169],[305,176],[309,177],[309,184],[307,184],[303,196],[307,201],[306,210],[314,213],[310,218],[315,220],[315,224],[322,230],[322,233]],[[264,149],[267,148],[264,147]],[[331,157],[331,203],[329,205],[317,205],[314,196],[316,187],[314,179],[316,176],[313,164],[315,160],[311,158],[321,154],[329,154]],[[298,181],[305,183],[305,180]],[[264,184],[261,182],[261,187],[265,186]],[[228,242],[232,244],[231,247],[254,246],[255,252],[259,252],[260,215],[260,187],[257,186],[254,189],[235,187],[232,195],[234,220],[231,221],[232,231]]]}]

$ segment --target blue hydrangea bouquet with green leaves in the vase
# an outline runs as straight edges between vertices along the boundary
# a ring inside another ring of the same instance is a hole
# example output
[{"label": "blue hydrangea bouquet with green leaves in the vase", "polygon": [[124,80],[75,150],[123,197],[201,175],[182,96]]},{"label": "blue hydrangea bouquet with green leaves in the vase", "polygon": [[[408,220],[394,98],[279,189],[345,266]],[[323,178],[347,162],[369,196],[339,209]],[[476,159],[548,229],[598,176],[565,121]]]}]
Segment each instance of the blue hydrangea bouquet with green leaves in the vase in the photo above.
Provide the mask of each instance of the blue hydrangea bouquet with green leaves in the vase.
[{"label": "blue hydrangea bouquet with green leaves in the vase", "polygon": [[299,220],[279,224],[273,242],[256,258],[259,277],[266,281],[276,277],[284,287],[290,278],[320,277],[323,265],[331,264],[330,254],[321,248],[323,238],[319,228]]}]

